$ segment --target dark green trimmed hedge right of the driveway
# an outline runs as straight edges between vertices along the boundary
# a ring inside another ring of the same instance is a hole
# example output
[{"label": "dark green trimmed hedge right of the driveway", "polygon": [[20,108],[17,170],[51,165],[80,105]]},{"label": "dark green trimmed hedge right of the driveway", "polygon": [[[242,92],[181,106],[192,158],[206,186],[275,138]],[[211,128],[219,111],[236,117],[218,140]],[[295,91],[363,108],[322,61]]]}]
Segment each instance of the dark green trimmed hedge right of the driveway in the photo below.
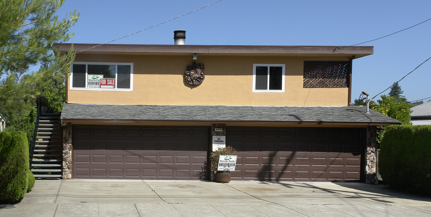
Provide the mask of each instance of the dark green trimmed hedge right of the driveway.
[{"label": "dark green trimmed hedge right of the driveway", "polygon": [[431,125],[387,127],[379,173],[390,188],[431,195]]}]

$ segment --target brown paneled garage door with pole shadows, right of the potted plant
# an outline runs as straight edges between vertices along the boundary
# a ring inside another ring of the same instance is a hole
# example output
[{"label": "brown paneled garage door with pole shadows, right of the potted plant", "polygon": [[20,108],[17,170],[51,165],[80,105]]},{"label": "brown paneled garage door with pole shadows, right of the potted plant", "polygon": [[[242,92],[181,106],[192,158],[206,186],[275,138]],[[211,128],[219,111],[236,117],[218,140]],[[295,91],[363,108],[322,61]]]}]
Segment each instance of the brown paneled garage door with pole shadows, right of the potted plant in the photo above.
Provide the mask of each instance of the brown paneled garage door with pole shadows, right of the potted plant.
[{"label": "brown paneled garage door with pole shadows, right of the potted plant", "polygon": [[363,128],[228,127],[237,150],[232,180],[332,181],[361,178]]}]

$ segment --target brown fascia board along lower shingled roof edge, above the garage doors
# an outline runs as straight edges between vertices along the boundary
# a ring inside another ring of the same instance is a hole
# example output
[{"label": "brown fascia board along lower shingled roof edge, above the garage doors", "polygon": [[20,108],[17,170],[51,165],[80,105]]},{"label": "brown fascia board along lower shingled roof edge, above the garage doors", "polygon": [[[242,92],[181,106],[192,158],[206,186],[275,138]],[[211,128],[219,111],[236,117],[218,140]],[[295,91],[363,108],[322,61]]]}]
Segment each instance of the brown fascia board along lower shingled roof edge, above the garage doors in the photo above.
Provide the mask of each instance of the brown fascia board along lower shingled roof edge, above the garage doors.
[{"label": "brown fascia board along lower shingled roof edge, above the garage doors", "polygon": [[357,126],[379,126],[379,125],[402,125],[402,122],[315,122],[315,121],[235,121],[235,120],[142,120],[142,119],[75,119],[75,118],[64,118],[61,122],[93,122],[93,123],[199,123],[199,124],[213,124],[213,123],[225,123],[225,124],[289,124],[289,125],[357,125]]}]

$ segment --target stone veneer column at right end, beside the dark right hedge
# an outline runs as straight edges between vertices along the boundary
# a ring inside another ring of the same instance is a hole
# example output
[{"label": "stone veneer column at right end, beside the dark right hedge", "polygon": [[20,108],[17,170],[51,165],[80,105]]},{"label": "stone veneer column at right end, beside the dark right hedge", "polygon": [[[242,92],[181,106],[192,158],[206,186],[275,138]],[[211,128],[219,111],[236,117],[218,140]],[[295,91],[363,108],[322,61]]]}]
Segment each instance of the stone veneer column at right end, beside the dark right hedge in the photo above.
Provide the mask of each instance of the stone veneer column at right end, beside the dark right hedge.
[{"label": "stone veneer column at right end, beside the dark right hedge", "polygon": [[377,184],[376,177],[376,126],[367,126],[367,152],[365,155],[365,183]]}]

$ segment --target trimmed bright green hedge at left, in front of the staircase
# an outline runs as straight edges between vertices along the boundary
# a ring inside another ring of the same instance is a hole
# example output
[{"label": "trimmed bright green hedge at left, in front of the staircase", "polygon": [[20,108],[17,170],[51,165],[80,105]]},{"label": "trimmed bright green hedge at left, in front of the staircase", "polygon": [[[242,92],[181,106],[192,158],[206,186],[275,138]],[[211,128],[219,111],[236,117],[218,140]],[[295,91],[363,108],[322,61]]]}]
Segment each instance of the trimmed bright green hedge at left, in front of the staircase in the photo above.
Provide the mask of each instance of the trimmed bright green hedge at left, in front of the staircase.
[{"label": "trimmed bright green hedge at left, in front of the staircase", "polygon": [[24,132],[0,132],[0,201],[14,202],[28,189],[28,144]]}]

